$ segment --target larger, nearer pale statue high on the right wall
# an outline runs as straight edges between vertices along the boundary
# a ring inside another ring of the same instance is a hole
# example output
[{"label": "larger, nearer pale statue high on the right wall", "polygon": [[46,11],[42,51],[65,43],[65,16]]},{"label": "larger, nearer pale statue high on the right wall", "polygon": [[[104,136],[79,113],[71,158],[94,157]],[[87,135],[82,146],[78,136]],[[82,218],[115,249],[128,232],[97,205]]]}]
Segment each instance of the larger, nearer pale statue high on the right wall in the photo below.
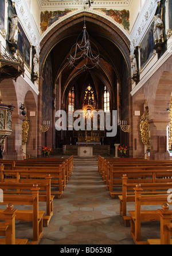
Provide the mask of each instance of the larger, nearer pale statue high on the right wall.
[{"label": "larger, nearer pale statue high on the right wall", "polygon": [[155,16],[155,21],[154,21],[154,41],[155,43],[163,43],[163,21],[161,20],[160,14]]}]

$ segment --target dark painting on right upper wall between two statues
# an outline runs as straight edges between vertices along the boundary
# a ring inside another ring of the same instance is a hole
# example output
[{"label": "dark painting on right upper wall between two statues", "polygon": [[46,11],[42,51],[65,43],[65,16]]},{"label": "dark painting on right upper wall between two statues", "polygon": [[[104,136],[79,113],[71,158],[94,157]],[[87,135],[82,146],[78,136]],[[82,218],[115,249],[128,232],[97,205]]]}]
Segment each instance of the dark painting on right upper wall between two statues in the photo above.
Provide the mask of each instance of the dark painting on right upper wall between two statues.
[{"label": "dark painting on right upper wall between two statues", "polygon": [[140,65],[143,69],[154,54],[154,23],[150,25],[140,45]]}]

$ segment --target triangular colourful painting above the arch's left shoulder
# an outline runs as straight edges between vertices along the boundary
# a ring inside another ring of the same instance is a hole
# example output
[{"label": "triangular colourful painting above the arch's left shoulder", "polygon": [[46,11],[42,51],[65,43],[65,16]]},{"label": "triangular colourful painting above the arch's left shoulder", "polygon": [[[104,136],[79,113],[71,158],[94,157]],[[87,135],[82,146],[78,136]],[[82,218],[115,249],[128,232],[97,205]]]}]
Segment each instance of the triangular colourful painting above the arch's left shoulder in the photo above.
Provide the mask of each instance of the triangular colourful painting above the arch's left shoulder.
[{"label": "triangular colourful painting above the arch's left shoulder", "polygon": [[71,12],[71,10],[65,10],[65,11],[55,11],[55,12],[41,12],[41,31],[44,33],[47,28],[50,27],[54,22],[59,20],[59,18],[67,15],[67,13]]}]

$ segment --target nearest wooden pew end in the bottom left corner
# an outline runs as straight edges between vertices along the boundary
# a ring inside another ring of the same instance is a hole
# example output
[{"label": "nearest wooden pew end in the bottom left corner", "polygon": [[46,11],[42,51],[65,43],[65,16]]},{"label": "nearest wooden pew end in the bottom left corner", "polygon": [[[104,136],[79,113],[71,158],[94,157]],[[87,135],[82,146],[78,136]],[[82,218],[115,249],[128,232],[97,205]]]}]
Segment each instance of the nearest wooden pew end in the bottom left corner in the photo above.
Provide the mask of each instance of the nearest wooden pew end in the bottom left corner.
[{"label": "nearest wooden pew end in the bottom left corner", "polygon": [[14,206],[12,204],[7,204],[6,210],[2,212],[3,220],[5,223],[0,223],[0,236],[5,236],[5,238],[0,239],[0,244],[8,244],[8,245],[19,245],[19,244],[27,244],[28,239],[16,239],[15,238],[15,216],[17,210],[14,210]]}]

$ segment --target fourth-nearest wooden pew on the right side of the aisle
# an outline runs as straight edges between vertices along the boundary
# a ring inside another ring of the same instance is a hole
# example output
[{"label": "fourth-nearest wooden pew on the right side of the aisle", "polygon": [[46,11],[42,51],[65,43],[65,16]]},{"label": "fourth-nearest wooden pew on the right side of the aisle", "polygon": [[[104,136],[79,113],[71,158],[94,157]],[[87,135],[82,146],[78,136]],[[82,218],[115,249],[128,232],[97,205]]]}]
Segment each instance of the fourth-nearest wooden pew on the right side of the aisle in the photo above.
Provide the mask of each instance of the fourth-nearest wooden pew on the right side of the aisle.
[{"label": "fourth-nearest wooden pew on the right side of the aisle", "polygon": [[172,182],[172,167],[128,167],[122,168],[122,170],[114,170],[113,167],[110,167],[110,173],[110,195],[112,198],[115,198],[115,195],[122,194],[120,191],[115,192],[114,187],[122,188],[123,174],[126,174],[130,179],[135,179],[134,182],[140,179],[139,183]]}]

